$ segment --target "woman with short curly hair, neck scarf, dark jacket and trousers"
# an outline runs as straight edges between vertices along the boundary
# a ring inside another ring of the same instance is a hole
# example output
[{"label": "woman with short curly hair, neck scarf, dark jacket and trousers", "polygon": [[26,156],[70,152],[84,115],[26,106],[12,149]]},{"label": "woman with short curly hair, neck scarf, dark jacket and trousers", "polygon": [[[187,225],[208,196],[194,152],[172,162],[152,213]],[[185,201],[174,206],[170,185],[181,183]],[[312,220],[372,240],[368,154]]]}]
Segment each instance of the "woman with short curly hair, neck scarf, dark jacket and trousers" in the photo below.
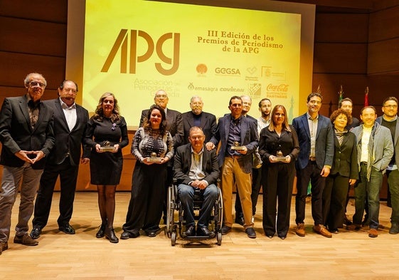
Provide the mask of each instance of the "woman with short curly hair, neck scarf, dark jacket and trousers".
[{"label": "woman with short curly hair, neck scarf, dark jacket and trousers", "polygon": [[334,161],[323,190],[323,222],[329,232],[338,233],[343,226],[348,184],[358,179],[356,136],[348,131],[351,114],[344,109],[335,110],[330,116],[334,125]]}]

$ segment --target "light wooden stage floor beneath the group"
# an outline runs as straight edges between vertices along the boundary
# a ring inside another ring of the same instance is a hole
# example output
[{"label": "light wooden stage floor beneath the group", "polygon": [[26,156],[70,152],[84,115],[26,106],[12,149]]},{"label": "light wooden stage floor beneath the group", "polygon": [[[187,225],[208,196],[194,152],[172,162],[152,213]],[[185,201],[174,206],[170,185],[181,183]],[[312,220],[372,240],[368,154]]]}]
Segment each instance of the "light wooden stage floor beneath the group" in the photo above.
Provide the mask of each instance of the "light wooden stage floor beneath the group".
[{"label": "light wooden stage floor beneath the group", "polygon": [[[19,197],[19,196],[18,196]],[[117,193],[115,230],[122,233],[129,203],[128,192]],[[119,240],[111,244],[95,238],[100,224],[97,193],[78,192],[71,224],[75,235],[58,231],[59,194],[53,199],[50,220],[36,247],[14,244],[14,228],[19,199],[13,209],[9,249],[0,256],[0,279],[73,280],[254,280],[254,279],[399,279],[399,234],[388,233],[390,208],[381,202],[380,221],[384,226],[375,239],[368,228],[359,232],[341,229],[327,239],[312,232],[310,204],[307,204],[306,237],[294,233],[287,239],[265,237],[262,231],[260,196],[255,229],[257,239],[249,239],[243,228],[234,224],[223,236],[222,245],[183,244],[171,247],[161,232],[157,237]],[[353,199],[349,217],[353,214]],[[29,224],[31,227],[31,224]],[[215,239],[216,241],[216,239]]]}]

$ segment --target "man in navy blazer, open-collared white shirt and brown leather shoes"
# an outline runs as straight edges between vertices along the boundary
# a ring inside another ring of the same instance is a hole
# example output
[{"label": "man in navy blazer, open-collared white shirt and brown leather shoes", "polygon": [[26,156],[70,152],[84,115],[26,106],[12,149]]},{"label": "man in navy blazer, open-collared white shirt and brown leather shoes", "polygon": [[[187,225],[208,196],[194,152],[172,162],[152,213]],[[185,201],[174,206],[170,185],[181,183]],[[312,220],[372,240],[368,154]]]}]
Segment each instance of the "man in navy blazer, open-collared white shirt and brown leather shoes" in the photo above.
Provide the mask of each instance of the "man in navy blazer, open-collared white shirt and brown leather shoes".
[{"label": "man in navy blazer, open-collared white shirt and brown leather shoes", "polygon": [[307,97],[307,113],[292,120],[299,140],[297,167],[297,197],[295,212],[296,233],[305,236],[304,219],[309,181],[312,184],[312,217],[314,232],[324,237],[332,237],[323,225],[322,196],[326,177],[330,173],[334,157],[334,135],[331,120],[319,115],[320,93],[310,93]]}]

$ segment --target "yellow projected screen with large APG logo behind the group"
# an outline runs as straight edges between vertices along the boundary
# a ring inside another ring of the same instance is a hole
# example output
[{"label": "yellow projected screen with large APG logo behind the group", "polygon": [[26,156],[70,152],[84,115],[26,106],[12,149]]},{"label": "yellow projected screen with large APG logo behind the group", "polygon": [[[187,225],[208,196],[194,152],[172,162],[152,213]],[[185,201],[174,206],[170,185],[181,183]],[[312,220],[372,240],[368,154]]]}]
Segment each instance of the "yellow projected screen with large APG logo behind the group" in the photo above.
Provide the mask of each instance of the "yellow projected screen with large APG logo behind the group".
[{"label": "yellow projected screen with large APG logo behind the group", "polygon": [[250,115],[270,98],[299,115],[301,15],[155,1],[86,0],[83,106],[115,93],[129,128],[164,89],[169,108],[228,113],[232,95],[250,95]]}]

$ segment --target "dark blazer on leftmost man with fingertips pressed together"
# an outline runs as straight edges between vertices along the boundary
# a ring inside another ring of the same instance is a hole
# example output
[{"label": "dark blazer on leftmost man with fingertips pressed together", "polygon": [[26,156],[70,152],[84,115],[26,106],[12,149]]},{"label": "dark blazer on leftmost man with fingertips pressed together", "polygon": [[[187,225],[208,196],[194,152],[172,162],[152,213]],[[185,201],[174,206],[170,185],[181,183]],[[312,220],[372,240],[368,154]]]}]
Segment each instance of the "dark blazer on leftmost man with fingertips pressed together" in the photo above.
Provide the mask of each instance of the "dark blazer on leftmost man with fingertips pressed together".
[{"label": "dark blazer on leftmost man with fingertips pressed together", "polygon": [[0,112],[0,164],[9,167],[21,167],[25,162],[16,155],[20,150],[44,152],[46,157],[39,160],[33,169],[43,169],[47,156],[54,146],[53,109],[40,103],[38,121],[31,127],[26,95],[4,99]]}]

